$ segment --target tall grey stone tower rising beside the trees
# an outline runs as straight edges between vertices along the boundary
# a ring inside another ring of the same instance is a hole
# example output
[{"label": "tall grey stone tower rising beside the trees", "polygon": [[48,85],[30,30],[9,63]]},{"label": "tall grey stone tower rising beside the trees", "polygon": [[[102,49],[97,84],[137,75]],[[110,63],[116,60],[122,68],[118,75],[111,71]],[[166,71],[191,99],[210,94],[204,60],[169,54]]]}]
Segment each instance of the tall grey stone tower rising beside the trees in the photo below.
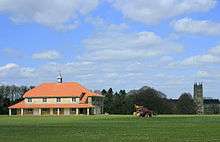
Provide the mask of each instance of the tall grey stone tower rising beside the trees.
[{"label": "tall grey stone tower rising beside the trees", "polygon": [[203,105],[203,86],[202,83],[194,84],[194,101],[196,103],[196,112],[197,114],[204,113],[204,105]]}]

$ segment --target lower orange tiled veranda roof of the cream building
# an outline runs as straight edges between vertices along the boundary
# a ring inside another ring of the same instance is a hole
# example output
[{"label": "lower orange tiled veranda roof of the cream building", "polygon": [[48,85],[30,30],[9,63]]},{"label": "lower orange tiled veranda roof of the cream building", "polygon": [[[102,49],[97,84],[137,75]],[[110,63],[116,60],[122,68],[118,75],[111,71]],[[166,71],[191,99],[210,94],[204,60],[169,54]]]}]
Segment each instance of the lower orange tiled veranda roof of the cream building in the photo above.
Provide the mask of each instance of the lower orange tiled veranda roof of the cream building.
[{"label": "lower orange tiled veranda roof of the cream building", "polygon": [[91,104],[27,104],[25,101],[21,101],[8,108],[93,108]]}]

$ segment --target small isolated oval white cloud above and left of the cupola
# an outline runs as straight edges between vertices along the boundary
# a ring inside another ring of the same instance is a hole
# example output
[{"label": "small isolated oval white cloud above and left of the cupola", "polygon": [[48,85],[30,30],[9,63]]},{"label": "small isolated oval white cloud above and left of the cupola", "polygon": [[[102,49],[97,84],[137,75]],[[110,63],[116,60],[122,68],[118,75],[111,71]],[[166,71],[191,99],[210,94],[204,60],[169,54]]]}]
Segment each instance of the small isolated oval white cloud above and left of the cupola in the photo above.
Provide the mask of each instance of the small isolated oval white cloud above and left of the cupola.
[{"label": "small isolated oval white cloud above and left of the cupola", "polygon": [[34,53],[32,55],[33,59],[40,59],[40,60],[56,60],[61,57],[60,53],[54,50]]}]

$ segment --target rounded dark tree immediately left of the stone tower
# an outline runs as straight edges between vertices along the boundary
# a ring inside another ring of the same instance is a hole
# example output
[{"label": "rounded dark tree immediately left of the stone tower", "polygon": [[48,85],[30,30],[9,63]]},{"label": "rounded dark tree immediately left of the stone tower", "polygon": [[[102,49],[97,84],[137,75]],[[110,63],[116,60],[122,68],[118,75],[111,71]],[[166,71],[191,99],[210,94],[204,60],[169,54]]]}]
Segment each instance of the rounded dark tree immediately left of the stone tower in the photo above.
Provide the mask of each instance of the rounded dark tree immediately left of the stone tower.
[{"label": "rounded dark tree immediately left of the stone tower", "polygon": [[177,112],[179,114],[195,114],[196,104],[190,93],[183,93],[177,101]]}]

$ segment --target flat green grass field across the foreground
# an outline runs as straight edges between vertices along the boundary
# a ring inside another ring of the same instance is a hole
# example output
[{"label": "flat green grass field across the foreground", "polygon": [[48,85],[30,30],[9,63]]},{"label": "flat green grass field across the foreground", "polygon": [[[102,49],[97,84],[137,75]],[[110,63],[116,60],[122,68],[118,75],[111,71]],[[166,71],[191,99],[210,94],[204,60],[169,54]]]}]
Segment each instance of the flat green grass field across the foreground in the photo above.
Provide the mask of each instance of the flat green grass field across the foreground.
[{"label": "flat green grass field across the foreground", "polygon": [[220,142],[220,116],[0,116],[2,142]]}]

